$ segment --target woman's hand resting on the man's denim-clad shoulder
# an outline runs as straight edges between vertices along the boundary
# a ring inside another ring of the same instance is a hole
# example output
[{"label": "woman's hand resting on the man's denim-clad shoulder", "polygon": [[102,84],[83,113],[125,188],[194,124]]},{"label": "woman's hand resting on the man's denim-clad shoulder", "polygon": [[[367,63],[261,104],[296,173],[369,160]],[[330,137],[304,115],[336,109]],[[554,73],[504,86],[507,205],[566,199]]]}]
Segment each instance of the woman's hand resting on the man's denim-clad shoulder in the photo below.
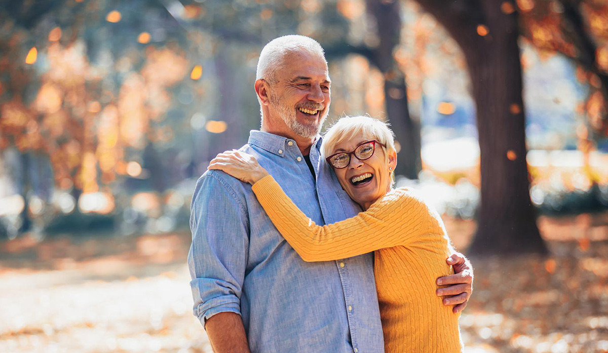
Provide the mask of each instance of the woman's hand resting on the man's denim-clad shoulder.
[{"label": "woman's hand resting on the man's denim-clad shoulder", "polygon": [[236,149],[215,156],[207,169],[224,171],[251,185],[268,175],[268,171],[262,168],[254,156]]}]

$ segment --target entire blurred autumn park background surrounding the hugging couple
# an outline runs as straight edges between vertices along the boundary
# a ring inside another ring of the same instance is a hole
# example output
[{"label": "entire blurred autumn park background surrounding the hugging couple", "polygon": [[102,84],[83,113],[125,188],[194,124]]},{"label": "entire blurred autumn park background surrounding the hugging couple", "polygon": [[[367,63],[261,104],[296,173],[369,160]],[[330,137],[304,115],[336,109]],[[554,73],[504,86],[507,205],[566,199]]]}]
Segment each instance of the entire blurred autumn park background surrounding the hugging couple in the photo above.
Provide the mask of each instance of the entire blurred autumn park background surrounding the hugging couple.
[{"label": "entire blurred autumn park background surrounding the hugging couple", "polygon": [[465,352],[608,352],[605,0],[3,1],[0,352],[211,352],[190,197],[292,33],[471,257]]}]

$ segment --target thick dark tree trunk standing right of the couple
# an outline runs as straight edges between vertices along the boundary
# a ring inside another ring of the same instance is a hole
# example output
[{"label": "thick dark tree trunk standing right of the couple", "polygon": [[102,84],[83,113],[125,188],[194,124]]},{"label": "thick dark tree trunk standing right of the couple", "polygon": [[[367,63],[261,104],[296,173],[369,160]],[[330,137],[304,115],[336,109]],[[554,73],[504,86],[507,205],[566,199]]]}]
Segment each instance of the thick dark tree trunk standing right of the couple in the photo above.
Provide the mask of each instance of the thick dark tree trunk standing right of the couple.
[{"label": "thick dark tree trunk standing right of the couple", "polygon": [[[547,253],[530,201],[517,13],[501,0],[420,0],[465,53],[477,108],[481,204],[471,253]],[[478,27],[479,25],[485,27]],[[488,33],[485,36],[480,35]]]}]

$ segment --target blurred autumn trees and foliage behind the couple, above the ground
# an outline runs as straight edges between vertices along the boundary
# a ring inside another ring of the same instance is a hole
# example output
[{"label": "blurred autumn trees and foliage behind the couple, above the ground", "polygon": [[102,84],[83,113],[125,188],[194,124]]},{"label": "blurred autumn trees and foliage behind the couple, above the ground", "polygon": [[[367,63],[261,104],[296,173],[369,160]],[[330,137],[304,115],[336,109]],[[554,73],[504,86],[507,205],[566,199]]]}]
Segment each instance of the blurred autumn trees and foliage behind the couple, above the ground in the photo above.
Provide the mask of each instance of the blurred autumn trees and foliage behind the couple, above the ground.
[{"label": "blurred autumn trees and foliage behind the couple, above the ground", "polygon": [[534,208],[608,206],[600,1],[40,0],[0,17],[9,238],[187,225],[207,162],[259,127],[260,48],[289,33],[326,50],[328,124],[389,121],[397,174],[442,213],[477,213],[473,250],[543,253]]}]

